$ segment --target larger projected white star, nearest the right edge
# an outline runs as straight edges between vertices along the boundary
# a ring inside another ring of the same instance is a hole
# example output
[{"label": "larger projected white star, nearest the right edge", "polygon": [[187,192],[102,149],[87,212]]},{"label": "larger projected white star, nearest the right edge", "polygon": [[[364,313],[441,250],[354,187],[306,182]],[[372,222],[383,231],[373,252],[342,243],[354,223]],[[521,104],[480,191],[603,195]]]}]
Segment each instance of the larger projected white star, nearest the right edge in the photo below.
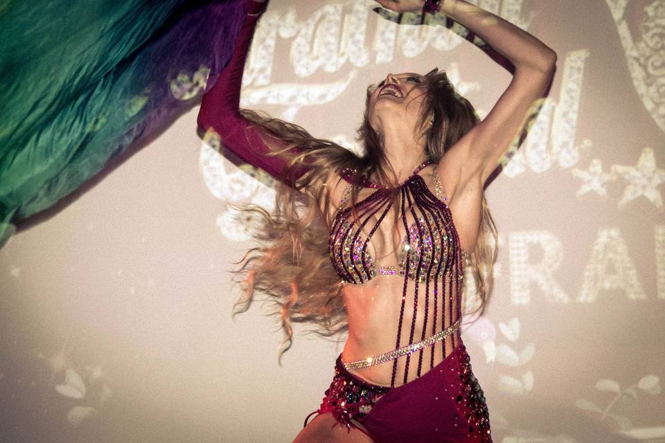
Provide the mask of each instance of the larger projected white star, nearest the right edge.
[{"label": "larger projected white star, nearest the right edge", "polygon": [[653,148],[645,147],[642,150],[636,166],[614,165],[612,170],[619,172],[629,183],[619,200],[619,208],[644,195],[656,208],[663,209],[663,199],[658,186],[665,182],[665,170],[656,167]]}]

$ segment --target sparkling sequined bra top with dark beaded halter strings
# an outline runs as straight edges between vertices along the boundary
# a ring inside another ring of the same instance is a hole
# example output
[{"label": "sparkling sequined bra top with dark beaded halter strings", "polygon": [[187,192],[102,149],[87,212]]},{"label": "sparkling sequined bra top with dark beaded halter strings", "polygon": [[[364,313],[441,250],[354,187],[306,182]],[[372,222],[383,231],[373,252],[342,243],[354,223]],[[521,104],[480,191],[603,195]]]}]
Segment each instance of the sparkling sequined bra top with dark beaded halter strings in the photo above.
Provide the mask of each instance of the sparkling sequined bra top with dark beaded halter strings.
[{"label": "sparkling sequined bra top with dark beaded halter strings", "polygon": [[[457,244],[457,233],[452,223],[450,210],[445,204],[441,183],[434,168],[434,186],[438,197],[430,192],[420,170],[432,164],[427,161],[418,166],[414,173],[403,183],[400,192],[400,224],[407,235],[403,236],[398,249],[396,266],[377,266],[368,251],[372,236],[379,225],[388,217],[393,205],[390,190],[378,183],[366,181],[365,187],[376,188],[366,199],[355,204],[357,219],[353,208],[344,208],[351,186],[347,186],[342,207],[332,219],[329,249],[330,259],[335,271],[344,282],[362,284],[377,275],[402,275],[409,280],[434,280],[446,271],[447,257],[452,255],[453,245]],[[342,171],[342,178],[353,183],[353,171]],[[350,184],[351,184],[350,183]],[[410,217],[409,217],[410,215]],[[411,219],[408,224],[407,219]],[[369,233],[364,236],[364,232]]]}]

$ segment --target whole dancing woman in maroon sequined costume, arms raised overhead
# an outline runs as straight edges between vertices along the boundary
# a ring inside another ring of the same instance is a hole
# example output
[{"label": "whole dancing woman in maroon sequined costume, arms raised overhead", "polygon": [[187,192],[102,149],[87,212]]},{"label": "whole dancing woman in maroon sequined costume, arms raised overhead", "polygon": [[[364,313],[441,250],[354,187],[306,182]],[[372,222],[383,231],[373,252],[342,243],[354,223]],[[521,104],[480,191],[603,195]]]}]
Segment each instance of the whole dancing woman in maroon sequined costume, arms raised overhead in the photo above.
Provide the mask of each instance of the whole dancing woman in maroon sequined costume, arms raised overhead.
[{"label": "whole dancing woman in maroon sequined costume, arms raised overhead", "polygon": [[[198,124],[241,161],[278,179],[274,213],[257,215],[260,245],[242,261],[246,291],[291,323],[348,331],[335,375],[295,442],[491,442],[488,408],[461,339],[465,275],[484,307],[496,236],[484,186],[547,91],[556,54],[463,0],[380,0],[436,12],[480,37],[513,80],[479,121],[445,72],[389,73],[367,89],[365,154],[238,109],[242,69],[266,3],[249,0],[233,58],[204,96]],[[252,217],[249,217],[252,218]],[[470,273],[465,273],[465,266]],[[313,415],[315,417],[310,419]]]}]

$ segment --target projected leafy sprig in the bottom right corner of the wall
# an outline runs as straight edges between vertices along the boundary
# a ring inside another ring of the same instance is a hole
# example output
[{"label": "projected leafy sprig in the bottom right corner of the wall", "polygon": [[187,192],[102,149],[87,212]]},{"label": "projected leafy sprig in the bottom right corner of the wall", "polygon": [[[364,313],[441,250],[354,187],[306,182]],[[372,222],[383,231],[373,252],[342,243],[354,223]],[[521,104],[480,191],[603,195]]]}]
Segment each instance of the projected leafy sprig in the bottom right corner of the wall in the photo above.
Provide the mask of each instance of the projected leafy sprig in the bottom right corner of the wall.
[{"label": "projected leafy sprig in the bottom right corner of the wall", "polygon": [[[621,388],[619,383],[612,379],[600,379],[596,382],[595,388],[600,392],[609,392],[610,394],[614,394],[614,397],[608,401],[605,408],[602,408],[594,401],[587,399],[578,399],[575,401],[575,406],[577,406],[579,409],[588,410],[594,414],[600,415],[601,422],[603,422],[605,419],[614,420],[614,422],[619,424],[621,431],[627,435],[632,434],[636,437],[638,437],[640,434],[643,434],[644,430],[633,428],[632,422],[628,417],[616,413],[615,411],[619,407],[621,407],[623,410],[634,407],[635,404],[637,404],[637,397],[640,391],[650,395],[659,395],[662,392],[660,379],[656,375],[646,375],[645,377],[642,377],[637,383],[628,386],[628,388]],[[655,437],[658,436],[656,435]],[[659,437],[665,437],[665,433],[659,435]]]}]

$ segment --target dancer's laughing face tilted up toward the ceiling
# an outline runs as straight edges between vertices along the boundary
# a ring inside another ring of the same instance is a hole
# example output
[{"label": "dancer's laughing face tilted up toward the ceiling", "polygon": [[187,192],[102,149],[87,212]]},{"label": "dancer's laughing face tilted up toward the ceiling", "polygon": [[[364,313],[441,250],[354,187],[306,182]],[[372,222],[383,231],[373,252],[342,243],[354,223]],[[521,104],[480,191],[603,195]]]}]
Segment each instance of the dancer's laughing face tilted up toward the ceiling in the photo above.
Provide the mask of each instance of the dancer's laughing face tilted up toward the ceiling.
[{"label": "dancer's laughing face tilted up toward the ceiling", "polygon": [[416,73],[388,74],[370,87],[369,123],[380,132],[386,124],[406,123],[415,129],[425,99],[424,76]]}]

